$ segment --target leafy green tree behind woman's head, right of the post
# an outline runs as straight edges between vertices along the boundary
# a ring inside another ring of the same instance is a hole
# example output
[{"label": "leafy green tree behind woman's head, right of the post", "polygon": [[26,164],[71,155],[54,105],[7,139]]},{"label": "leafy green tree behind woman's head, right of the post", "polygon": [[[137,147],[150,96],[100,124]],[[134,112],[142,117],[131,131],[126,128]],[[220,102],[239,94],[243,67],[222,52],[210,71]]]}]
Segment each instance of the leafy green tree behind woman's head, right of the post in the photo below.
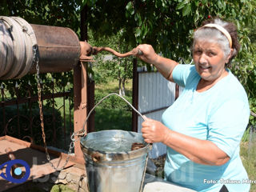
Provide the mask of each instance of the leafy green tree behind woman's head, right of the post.
[{"label": "leafy green tree behind woman's head, right of the post", "polygon": [[149,43],[163,56],[176,61],[183,58],[186,62],[191,60],[191,37],[203,20],[218,16],[235,22],[242,49],[231,70],[246,88],[251,109],[256,109],[255,46],[250,42],[250,29],[254,29],[256,21],[255,3],[254,0],[98,0],[90,3],[88,22],[94,38],[126,29],[123,37],[130,46]]}]

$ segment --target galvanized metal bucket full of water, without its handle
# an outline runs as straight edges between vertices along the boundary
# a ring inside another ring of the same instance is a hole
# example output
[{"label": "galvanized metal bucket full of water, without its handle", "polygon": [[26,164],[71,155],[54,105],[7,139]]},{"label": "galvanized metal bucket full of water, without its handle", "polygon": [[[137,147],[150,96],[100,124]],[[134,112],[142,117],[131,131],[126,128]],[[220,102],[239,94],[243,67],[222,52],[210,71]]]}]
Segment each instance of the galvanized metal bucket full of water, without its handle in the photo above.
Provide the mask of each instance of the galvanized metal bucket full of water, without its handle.
[{"label": "galvanized metal bucket full of water, without its handle", "polygon": [[[140,142],[144,147],[131,150],[134,142]],[[80,139],[80,143],[86,160],[90,192],[142,190],[150,150],[150,144],[144,142],[142,134],[124,130],[102,130],[87,134]]]}]

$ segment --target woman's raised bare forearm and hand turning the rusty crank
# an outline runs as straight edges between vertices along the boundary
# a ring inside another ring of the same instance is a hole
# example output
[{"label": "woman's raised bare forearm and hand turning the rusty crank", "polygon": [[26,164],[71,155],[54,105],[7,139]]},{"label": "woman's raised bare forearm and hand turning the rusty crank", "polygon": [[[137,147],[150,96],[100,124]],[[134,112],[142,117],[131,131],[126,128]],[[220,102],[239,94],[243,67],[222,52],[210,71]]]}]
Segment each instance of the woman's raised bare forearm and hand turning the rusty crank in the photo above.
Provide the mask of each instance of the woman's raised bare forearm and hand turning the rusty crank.
[{"label": "woman's raised bare forearm and hand turning the rusty crank", "polygon": [[138,55],[138,58],[142,59],[144,62],[153,64],[162,74],[162,76],[164,76],[167,80],[174,82],[172,72],[174,67],[178,65],[177,62],[174,62],[169,58],[163,58],[156,54],[153,47],[150,45],[143,44],[137,46],[137,48],[143,53],[142,55]]}]

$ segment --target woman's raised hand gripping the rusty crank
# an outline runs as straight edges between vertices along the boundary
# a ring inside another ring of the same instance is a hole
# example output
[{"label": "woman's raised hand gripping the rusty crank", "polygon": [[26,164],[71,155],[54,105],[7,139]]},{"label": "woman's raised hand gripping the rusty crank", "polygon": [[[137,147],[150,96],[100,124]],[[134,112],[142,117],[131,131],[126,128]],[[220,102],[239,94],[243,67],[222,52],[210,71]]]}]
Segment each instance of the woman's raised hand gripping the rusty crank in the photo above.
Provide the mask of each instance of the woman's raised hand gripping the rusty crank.
[{"label": "woman's raised hand gripping the rusty crank", "polygon": [[154,49],[152,46],[148,44],[142,44],[136,47],[136,49],[139,49],[142,51],[141,55],[137,55],[138,58],[142,59],[142,61],[147,62],[149,64],[154,64],[158,60],[158,54],[154,52]]}]

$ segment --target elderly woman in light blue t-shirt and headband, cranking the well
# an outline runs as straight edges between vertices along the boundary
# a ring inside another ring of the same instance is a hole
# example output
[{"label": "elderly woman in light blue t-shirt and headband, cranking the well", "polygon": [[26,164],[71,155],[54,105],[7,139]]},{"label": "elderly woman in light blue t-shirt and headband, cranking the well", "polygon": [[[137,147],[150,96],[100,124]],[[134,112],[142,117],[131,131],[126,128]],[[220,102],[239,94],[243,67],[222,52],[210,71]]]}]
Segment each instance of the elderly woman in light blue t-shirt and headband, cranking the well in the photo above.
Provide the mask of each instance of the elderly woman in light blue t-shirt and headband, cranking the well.
[{"label": "elderly woman in light blue t-shirt and headband, cranking the well", "polygon": [[146,118],[146,142],[167,146],[165,178],[197,191],[249,191],[239,143],[250,116],[246,91],[227,66],[239,50],[236,26],[214,18],[194,32],[194,65],[162,58],[139,45],[143,61],[183,86],[180,97],[162,114]]}]

